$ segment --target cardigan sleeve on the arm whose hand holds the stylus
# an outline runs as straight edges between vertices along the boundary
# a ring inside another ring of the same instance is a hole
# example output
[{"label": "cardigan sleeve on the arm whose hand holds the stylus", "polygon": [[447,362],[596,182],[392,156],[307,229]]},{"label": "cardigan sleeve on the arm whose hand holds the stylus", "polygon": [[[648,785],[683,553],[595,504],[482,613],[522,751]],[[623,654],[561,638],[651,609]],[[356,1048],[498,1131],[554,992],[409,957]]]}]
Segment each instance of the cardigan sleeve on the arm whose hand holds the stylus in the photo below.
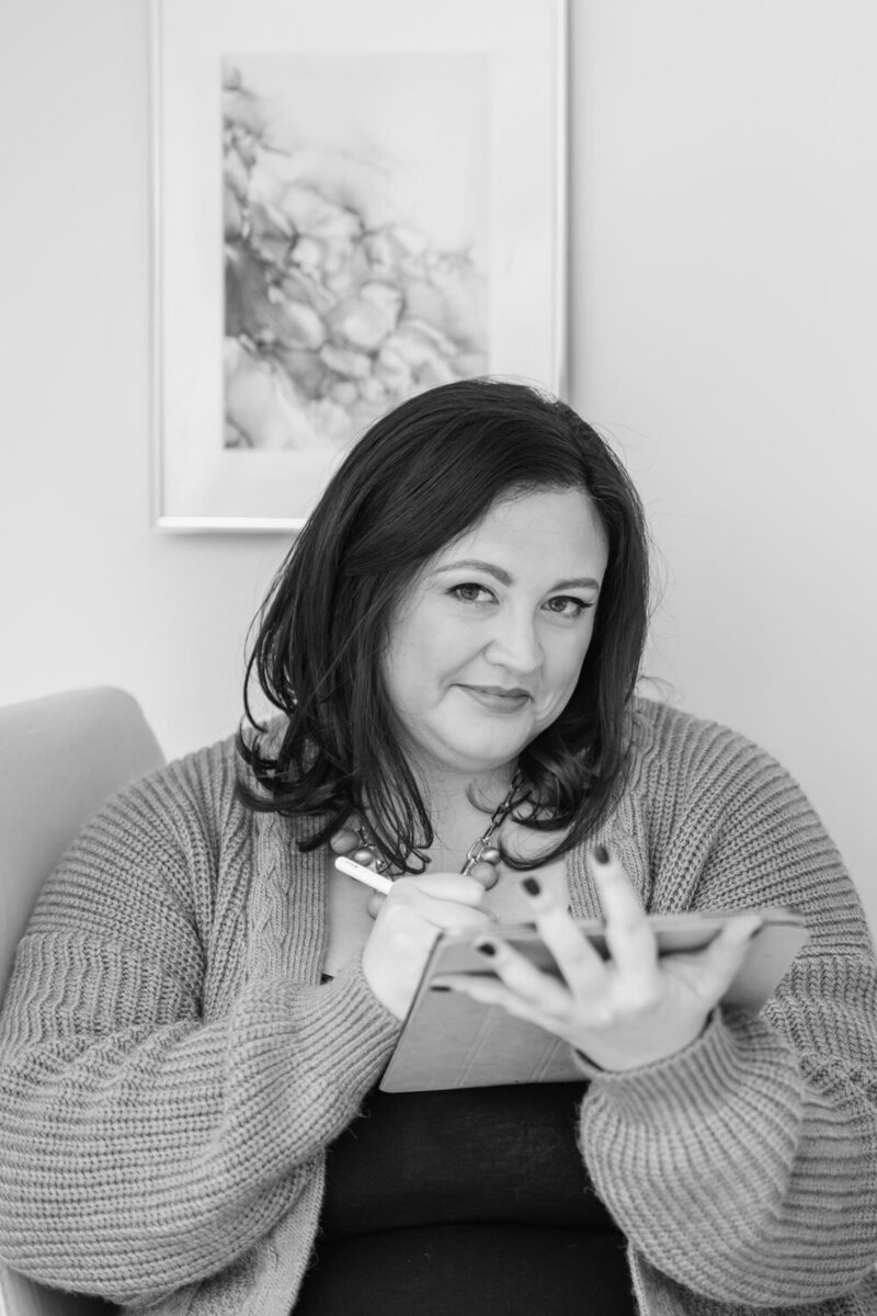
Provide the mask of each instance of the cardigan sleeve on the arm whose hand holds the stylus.
[{"label": "cardigan sleeve on the arm whose hand holds the stylus", "polygon": [[225,791],[233,812],[229,759],[218,786],[216,755],[193,757],[112,801],[21,942],[0,1019],[0,1255],[43,1282],[146,1303],[227,1267],[397,1036],[358,963],[327,986],[238,973],[205,1015],[212,963],[246,949],[243,811],[224,830],[209,801]]}]

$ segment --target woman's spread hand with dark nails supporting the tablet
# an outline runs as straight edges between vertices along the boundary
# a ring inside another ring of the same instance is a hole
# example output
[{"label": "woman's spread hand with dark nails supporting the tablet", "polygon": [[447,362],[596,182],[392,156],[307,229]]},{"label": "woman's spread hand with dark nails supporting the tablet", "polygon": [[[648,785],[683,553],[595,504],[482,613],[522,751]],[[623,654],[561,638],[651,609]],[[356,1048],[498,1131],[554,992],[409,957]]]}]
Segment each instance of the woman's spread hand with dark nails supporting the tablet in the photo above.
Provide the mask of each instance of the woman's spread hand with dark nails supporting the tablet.
[{"label": "woman's spread hand with dark nails supporting the tablet", "polygon": [[[605,861],[602,859],[605,855]],[[563,1037],[605,1070],[630,1070],[673,1055],[693,1042],[743,963],[757,915],[730,919],[698,951],[659,957],[655,934],[623,867],[602,848],[592,871],[606,925],[609,959],[582,937],[572,917],[523,879],[539,933],[563,980],[542,973],[501,937],[481,937],[476,948],[496,979],[444,974],[438,983]]]}]

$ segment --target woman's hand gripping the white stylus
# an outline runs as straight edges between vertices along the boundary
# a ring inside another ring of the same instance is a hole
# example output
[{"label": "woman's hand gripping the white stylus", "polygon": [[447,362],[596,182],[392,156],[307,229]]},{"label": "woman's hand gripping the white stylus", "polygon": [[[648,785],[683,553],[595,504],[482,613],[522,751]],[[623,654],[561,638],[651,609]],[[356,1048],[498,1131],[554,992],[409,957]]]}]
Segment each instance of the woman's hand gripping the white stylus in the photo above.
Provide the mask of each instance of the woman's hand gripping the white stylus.
[{"label": "woman's hand gripping the white stylus", "polygon": [[462,873],[398,878],[385,896],[372,896],[375,926],[363,948],[366,982],[383,1005],[405,1019],[440,932],[485,932],[484,883]]}]

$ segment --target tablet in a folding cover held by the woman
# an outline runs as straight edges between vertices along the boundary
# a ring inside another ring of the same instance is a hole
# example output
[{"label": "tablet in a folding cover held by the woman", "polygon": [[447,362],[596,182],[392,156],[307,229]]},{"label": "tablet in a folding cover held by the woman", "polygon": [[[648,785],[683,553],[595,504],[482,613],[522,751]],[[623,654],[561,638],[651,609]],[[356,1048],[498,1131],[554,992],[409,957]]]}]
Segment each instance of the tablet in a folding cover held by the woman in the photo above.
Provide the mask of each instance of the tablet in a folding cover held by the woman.
[{"label": "tablet in a folding cover held by the woman", "polygon": [[[803,917],[797,911],[772,907],[653,915],[648,921],[657,937],[659,951],[668,954],[707,945],[724,921],[742,913],[759,913],[763,924],[723,1003],[757,1013],[807,938]],[[605,957],[602,923],[577,923]],[[504,941],[538,967],[557,974],[557,966],[535,926],[510,924],[500,932]],[[581,1070],[576,1067],[568,1042],[527,1020],[513,1019],[501,1007],[483,1005],[462,992],[431,991],[433,979],[448,973],[493,976],[484,958],[472,949],[471,934],[446,933],[437,940],[381,1079],[384,1092],[581,1080]]]}]

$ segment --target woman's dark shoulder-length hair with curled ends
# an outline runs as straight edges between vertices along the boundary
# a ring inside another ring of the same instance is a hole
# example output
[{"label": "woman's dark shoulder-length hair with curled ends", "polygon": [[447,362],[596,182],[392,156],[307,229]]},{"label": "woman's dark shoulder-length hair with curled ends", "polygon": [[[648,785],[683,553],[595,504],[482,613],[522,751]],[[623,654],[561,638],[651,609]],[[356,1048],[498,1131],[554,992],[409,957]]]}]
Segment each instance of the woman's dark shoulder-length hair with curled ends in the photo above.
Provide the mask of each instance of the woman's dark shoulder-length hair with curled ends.
[{"label": "woman's dark shoulder-length hair with curled ends", "polygon": [[[393,616],[425,563],[497,499],[555,488],[588,495],[609,561],[573,695],[519,755],[514,812],[536,830],[567,829],[543,862],[593,834],[626,778],[648,619],[643,509],[618,458],[571,407],[497,379],[442,384],[402,403],[326,486],[254,620],[245,709],[256,734],[245,722],[238,732],[258,783],[238,783],[247,805],[314,817],[304,842],[312,849],[367,801],[391,863],[422,870],[433,829],[384,678]],[[254,670],[285,715],[276,740],[252,716]]]}]

